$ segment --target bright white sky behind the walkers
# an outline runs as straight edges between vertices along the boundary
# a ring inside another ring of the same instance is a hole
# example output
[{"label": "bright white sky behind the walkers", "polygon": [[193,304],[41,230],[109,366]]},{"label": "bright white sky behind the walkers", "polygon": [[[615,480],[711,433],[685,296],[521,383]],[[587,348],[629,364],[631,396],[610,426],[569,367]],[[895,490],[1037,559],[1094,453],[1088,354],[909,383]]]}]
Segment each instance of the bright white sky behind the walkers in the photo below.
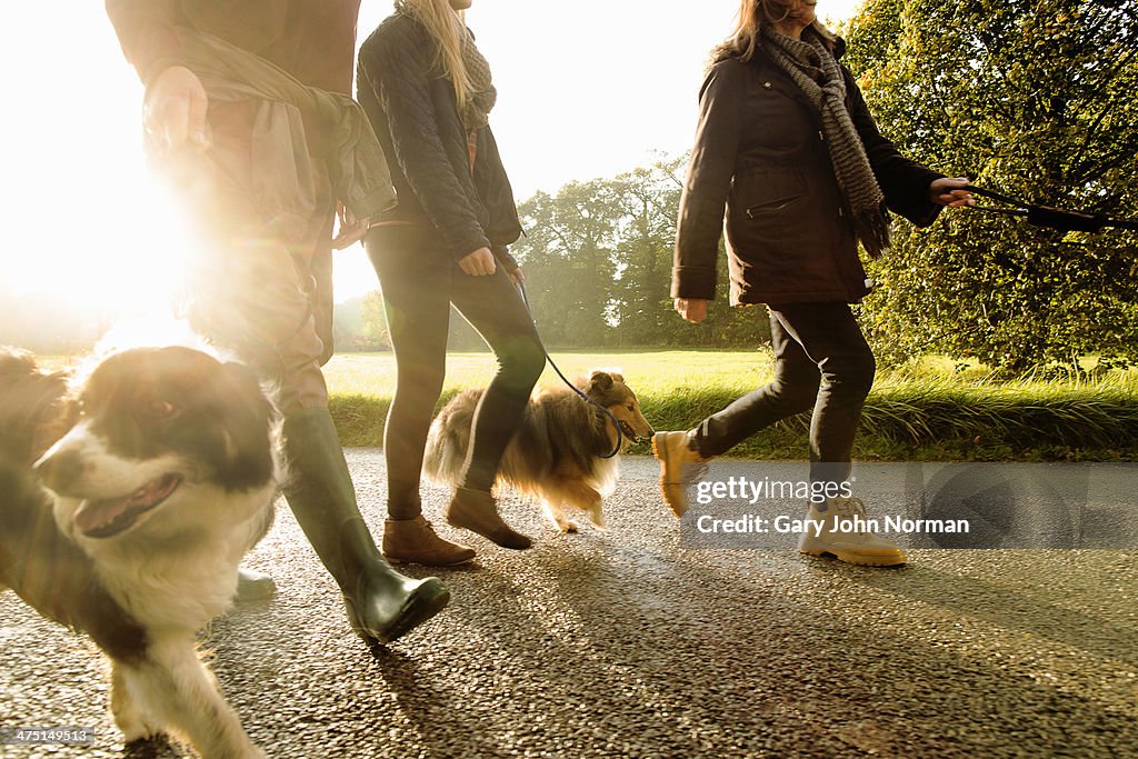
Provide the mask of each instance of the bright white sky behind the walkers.
[{"label": "bright white sky behind the walkers", "polygon": [[[859,2],[819,0],[818,15],[836,22]],[[737,5],[475,0],[467,23],[494,73],[490,125],[518,200],[686,150],[703,61]],[[360,41],[390,11],[389,0],[363,0]],[[18,3],[3,20],[0,290],[162,310],[192,244],[142,163],[142,89],[102,2]],[[376,288],[362,248],[337,254],[338,302]]]}]

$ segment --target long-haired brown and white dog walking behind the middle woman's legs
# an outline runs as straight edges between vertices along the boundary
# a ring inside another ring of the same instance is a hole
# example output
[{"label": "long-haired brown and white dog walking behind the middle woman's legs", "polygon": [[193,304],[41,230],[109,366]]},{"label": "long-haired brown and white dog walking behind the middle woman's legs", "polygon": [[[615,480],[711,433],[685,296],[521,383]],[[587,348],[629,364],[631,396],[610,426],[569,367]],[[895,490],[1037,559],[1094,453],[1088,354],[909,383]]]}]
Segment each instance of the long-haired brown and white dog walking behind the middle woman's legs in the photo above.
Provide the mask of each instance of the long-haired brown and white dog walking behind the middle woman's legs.
[{"label": "long-haired brown and white dog walking behind the middle woman's legs", "polygon": [[[578,388],[607,409],[620,424],[621,452],[636,438],[651,438],[652,426],[641,413],[636,394],[616,372],[595,371]],[[457,484],[470,445],[470,426],[483,390],[465,390],[438,413],[427,440],[423,472],[432,480]],[[618,456],[605,459],[617,431],[597,406],[569,388],[537,394],[526,407],[521,427],[502,457],[498,482],[541,501],[550,521],[562,533],[577,530],[566,508],[583,511],[604,526],[603,500],[617,485]]]}]

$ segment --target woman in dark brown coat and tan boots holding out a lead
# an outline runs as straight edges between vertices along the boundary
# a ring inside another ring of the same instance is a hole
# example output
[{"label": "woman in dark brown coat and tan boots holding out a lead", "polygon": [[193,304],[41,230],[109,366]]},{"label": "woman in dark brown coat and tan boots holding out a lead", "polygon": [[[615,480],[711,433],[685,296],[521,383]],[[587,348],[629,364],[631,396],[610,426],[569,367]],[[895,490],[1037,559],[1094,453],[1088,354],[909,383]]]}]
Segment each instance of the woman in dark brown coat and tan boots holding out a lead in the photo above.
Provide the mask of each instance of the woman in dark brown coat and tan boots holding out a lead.
[{"label": "woman in dark brown coat and tan boots holding out a lead", "polygon": [[[699,471],[768,424],[813,410],[809,517],[825,523],[799,548],[859,564],[906,561],[894,543],[841,531],[864,515],[842,484],[875,362],[850,311],[872,287],[858,245],[889,248],[887,207],[918,226],[972,203],[965,179],[901,156],[877,131],[849,71],[844,42],[802,0],[742,0],[716,49],[679,207],[671,295],[699,323],[715,295],[726,209],[731,299],[767,304],[775,377],[693,429],[659,432],[660,485],[677,515]],[[846,520],[847,522],[852,520]]]}]

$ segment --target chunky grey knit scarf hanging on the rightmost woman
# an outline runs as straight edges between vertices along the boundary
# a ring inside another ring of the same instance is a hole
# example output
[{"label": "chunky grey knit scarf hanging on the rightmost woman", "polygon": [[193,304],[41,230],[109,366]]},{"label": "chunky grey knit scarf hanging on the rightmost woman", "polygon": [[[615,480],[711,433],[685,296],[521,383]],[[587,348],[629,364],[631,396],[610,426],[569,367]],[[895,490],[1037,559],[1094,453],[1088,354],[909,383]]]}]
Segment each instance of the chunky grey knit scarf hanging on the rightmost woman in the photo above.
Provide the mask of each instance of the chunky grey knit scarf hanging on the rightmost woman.
[{"label": "chunky grey knit scarf hanging on the rightmost woman", "polygon": [[822,132],[838,184],[853,215],[857,238],[872,257],[881,256],[889,250],[885,198],[846,108],[846,80],[838,59],[810,30],[803,31],[799,41],[767,27],[760,44],[822,114]]}]

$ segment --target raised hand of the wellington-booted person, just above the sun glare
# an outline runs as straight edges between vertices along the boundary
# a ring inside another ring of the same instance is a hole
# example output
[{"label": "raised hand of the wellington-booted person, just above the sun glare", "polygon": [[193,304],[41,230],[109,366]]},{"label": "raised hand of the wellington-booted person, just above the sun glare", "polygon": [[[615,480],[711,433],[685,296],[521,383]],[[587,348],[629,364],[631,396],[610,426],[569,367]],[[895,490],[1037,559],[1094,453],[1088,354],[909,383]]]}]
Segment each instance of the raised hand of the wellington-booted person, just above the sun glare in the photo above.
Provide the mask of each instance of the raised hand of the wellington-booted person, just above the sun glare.
[{"label": "raised hand of the wellington-booted person, just above the sun glare", "polygon": [[142,123],[160,150],[173,151],[187,143],[205,150],[209,147],[208,109],[209,98],[198,75],[185,66],[171,66],[147,89]]}]

